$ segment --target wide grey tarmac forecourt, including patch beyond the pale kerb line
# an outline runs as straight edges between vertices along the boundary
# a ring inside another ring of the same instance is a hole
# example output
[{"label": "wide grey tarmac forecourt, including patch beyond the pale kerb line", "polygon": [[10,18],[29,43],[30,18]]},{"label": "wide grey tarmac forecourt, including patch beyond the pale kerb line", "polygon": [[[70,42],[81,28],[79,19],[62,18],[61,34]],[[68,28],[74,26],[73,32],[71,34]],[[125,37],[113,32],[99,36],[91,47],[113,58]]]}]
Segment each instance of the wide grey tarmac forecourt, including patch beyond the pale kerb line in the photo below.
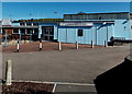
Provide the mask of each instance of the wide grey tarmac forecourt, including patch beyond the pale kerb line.
[{"label": "wide grey tarmac forecourt, including patch beyond the pale kerb line", "polygon": [[[94,84],[100,73],[121,63],[130,55],[130,46],[108,48],[85,48],[53,50],[41,52],[3,52],[3,67],[8,59],[13,61],[13,80],[47,81],[62,83]],[[3,68],[4,74],[4,68]],[[95,86],[76,86],[61,84],[57,92],[77,90],[94,92]],[[89,90],[90,91],[90,90]],[[90,94],[90,93],[89,93]],[[95,92],[91,94],[96,94]]]}]

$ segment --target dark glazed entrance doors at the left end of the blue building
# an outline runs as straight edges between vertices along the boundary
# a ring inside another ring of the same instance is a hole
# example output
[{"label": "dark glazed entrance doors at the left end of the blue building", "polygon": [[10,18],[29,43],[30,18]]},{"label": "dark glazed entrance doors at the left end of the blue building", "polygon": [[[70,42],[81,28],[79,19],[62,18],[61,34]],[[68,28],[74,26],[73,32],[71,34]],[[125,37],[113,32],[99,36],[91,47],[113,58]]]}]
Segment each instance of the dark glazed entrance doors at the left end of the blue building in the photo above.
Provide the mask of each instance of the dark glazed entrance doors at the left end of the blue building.
[{"label": "dark glazed entrance doors at the left end of the blue building", "polygon": [[54,26],[43,26],[42,27],[42,39],[54,40]]}]

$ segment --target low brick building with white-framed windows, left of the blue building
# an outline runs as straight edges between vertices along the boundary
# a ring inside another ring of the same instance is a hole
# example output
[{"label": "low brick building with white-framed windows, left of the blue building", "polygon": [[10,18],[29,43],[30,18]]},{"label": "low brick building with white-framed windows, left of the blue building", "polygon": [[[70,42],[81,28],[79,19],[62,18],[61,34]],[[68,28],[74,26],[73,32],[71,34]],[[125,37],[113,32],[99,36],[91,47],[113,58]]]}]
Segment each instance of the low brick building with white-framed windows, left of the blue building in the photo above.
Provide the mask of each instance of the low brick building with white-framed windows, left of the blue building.
[{"label": "low brick building with white-framed windows, left of the blue building", "polygon": [[15,23],[11,20],[2,20],[1,22],[1,36],[4,38],[7,35],[8,39],[30,39],[30,36],[34,37],[34,39],[38,35],[38,24],[37,23]]}]

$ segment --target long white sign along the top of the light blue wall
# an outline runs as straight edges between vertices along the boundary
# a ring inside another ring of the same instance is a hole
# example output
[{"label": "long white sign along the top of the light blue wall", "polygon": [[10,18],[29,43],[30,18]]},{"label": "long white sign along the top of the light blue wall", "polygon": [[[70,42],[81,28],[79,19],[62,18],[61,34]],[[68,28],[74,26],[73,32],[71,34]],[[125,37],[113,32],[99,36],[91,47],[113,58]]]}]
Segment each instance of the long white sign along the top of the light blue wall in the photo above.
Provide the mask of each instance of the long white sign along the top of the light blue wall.
[{"label": "long white sign along the top of the light blue wall", "polygon": [[59,23],[59,26],[92,26],[94,23],[78,22],[78,23]]}]

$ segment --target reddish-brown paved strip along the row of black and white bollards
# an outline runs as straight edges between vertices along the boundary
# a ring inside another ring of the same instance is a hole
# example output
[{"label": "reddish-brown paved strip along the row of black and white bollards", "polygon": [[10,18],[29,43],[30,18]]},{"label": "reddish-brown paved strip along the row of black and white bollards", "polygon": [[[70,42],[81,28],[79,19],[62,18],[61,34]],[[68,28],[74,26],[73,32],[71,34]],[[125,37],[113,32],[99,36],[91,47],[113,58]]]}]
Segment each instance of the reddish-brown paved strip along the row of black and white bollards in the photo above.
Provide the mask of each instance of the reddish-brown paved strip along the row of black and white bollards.
[{"label": "reddish-brown paved strip along the row of black and white bollards", "polygon": [[[76,44],[66,44],[66,43],[61,43],[62,49],[63,50],[68,50],[68,49],[77,49]],[[18,45],[8,45],[7,47],[2,48],[3,52],[16,52],[16,47]],[[50,50],[58,50],[58,43],[53,43],[53,42],[43,42],[42,43],[42,50],[41,51],[50,51]],[[84,48],[91,48],[91,45],[84,45],[84,44],[78,44],[79,49]],[[100,48],[105,46],[95,46],[95,48]],[[35,52],[40,51],[40,43],[38,42],[32,42],[28,44],[21,44],[19,46],[19,52]]]}]

